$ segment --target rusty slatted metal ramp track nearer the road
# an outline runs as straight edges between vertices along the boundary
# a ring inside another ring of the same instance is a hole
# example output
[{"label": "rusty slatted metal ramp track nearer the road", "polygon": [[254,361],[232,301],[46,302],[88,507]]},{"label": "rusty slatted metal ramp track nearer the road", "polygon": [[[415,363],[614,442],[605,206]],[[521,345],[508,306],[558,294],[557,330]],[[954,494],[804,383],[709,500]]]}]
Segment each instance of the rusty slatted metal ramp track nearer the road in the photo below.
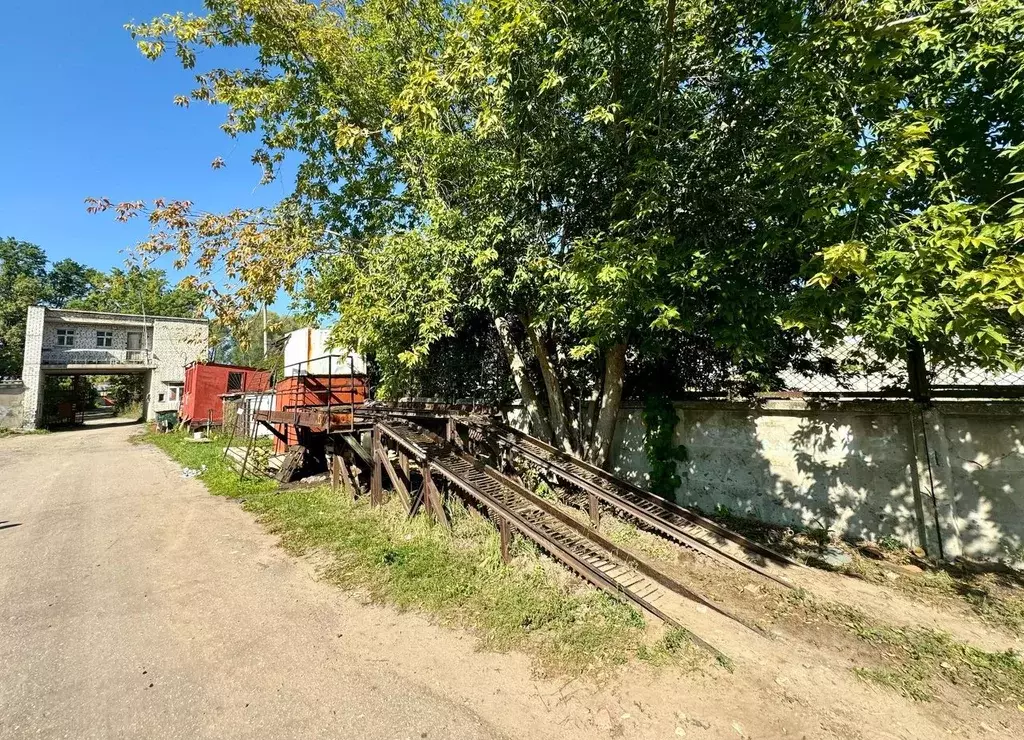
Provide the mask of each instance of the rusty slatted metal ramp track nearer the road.
[{"label": "rusty slatted metal ramp track nearer the road", "polygon": [[760,630],[656,565],[614,545],[550,502],[440,437],[400,420],[379,422],[381,440],[394,445],[434,476],[516,529],[590,583],[635,604],[685,632],[720,660],[724,654],[681,621],[681,599],[705,606],[744,627]]}]

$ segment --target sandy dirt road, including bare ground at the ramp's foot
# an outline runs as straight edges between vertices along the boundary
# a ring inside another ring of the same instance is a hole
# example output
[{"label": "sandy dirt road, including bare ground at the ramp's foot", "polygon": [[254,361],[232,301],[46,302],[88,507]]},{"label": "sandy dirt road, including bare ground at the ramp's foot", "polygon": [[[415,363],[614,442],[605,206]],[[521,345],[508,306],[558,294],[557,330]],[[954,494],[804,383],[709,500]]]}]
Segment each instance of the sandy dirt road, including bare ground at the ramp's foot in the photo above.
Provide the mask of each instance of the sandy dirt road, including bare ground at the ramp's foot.
[{"label": "sandy dirt road, including bare ground at the ramp's foot", "polygon": [[700,625],[732,672],[539,679],[522,655],[318,581],[238,504],[131,444],[138,431],[0,439],[0,738],[847,740],[1011,727],[863,684],[813,626],[766,640]]}]

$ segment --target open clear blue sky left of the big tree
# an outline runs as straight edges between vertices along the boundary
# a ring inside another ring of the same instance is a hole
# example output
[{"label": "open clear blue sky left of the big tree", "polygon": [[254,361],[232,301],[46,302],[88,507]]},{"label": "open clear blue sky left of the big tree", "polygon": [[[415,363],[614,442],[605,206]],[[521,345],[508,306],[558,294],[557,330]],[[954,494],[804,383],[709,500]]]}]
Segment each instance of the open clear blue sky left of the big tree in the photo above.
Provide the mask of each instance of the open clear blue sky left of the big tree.
[{"label": "open clear blue sky left of the big tree", "polygon": [[[0,236],[42,247],[52,261],[123,265],[146,232],[89,215],[83,200],[187,199],[217,211],[269,204],[290,182],[258,186],[251,142],[218,128],[224,110],[181,108],[195,72],[173,54],[150,61],[123,26],[200,0],[5,3],[0,24]],[[236,58],[241,58],[234,55]],[[197,71],[203,69],[203,57]],[[213,170],[222,157],[227,166]],[[155,266],[171,269],[171,258]]]}]

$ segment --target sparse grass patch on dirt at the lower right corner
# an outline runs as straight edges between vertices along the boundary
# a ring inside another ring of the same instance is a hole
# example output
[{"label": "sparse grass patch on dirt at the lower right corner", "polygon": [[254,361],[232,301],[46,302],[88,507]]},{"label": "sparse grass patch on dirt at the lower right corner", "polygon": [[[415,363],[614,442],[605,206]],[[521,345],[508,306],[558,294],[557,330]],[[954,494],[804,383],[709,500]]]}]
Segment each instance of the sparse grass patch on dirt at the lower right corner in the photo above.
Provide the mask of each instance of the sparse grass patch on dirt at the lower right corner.
[{"label": "sparse grass patch on dirt at the lower right corner", "polygon": [[1024,661],[1013,651],[990,653],[957,642],[946,633],[924,627],[893,627],[846,606],[815,601],[804,591],[786,596],[810,615],[840,624],[879,650],[881,665],[861,666],[863,679],[918,701],[935,696],[945,681],[970,689],[997,704],[1024,702]]}]

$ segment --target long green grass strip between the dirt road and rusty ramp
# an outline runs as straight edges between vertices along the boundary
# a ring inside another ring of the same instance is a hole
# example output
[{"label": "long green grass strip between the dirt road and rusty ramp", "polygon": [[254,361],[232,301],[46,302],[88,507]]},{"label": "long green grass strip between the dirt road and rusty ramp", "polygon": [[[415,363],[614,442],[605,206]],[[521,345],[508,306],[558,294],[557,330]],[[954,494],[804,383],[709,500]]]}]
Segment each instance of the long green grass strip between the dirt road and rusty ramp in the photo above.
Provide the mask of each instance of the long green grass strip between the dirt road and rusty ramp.
[{"label": "long green grass strip between the dirt road and rusty ramp", "polygon": [[371,509],[330,487],[240,481],[221,460],[222,441],[142,439],[183,466],[205,465],[200,479],[210,491],[243,499],[288,552],[326,556],[329,580],[472,628],[488,648],[529,652],[545,672],[600,672],[634,658],[695,667],[703,659],[684,636],[653,635],[638,611],[583,585],[522,539],[504,563],[498,532],[475,512],[453,507],[450,533],[425,517],[408,519],[397,500]]}]

